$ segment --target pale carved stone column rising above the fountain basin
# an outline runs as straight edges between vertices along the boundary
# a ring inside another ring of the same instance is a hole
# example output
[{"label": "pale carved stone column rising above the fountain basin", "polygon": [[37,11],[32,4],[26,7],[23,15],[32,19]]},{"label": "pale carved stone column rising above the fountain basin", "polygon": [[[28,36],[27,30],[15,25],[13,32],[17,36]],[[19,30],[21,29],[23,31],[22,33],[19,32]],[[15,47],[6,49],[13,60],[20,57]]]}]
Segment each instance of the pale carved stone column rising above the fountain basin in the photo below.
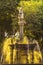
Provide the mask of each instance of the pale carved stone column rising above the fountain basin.
[{"label": "pale carved stone column rising above the fountain basin", "polygon": [[18,22],[18,25],[19,25],[19,28],[20,28],[20,39],[23,38],[23,28],[24,28],[24,24],[25,24],[25,21],[24,21],[24,13],[23,13],[23,10],[22,10],[22,7],[19,9],[19,15],[18,15],[18,19],[19,19],[19,22]]}]

